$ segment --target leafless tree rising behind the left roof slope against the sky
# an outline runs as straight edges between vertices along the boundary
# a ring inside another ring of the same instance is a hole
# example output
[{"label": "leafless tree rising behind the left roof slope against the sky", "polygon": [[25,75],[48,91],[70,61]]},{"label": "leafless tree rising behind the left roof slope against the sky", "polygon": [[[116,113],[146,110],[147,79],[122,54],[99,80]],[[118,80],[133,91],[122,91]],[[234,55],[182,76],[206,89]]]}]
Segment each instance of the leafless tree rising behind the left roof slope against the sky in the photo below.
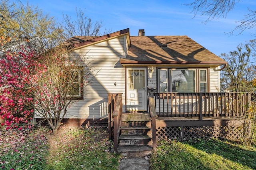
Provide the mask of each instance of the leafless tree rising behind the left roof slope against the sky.
[{"label": "leafless tree rising behind the left roof slope against the sky", "polygon": [[[72,20],[67,14],[63,16],[64,20],[64,36],[66,39],[73,36],[99,36],[103,27],[102,21],[92,22],[91,18],[84,15],[84,12],[76,8],[76,20]],[[110,30],[105,28],[104,34],[108,34]]]}]

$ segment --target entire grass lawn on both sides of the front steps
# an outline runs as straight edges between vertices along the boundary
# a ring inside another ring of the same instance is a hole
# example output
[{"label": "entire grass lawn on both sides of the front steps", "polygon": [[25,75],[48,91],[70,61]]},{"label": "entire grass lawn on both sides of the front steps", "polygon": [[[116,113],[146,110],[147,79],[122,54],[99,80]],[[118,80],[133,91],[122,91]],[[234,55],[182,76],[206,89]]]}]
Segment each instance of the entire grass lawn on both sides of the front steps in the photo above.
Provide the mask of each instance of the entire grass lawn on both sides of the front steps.
[{"label": "entire grass lawn on both sides of the front steps", "polygon": [[[0,127],[0,169],[115,170],[121,156],[110,150],[107,128]],[[210,140],[161,140],[150,156],[152,170],[253,170],[256,148]]]}]

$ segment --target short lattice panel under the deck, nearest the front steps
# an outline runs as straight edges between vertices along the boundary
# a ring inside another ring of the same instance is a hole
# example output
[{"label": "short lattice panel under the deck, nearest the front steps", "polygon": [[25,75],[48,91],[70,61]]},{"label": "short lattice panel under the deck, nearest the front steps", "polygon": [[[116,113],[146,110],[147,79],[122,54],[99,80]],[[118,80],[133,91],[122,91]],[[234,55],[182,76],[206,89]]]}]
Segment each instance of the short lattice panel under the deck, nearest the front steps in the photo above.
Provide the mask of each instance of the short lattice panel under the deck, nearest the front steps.
[{"label": "short lattice panel under the deck, nearest the front steps", "polygon": [[156,128],[156,137],[161,138],[171,138],[176,139],[180,137],[180,128],[179,127],[157,127]]}]

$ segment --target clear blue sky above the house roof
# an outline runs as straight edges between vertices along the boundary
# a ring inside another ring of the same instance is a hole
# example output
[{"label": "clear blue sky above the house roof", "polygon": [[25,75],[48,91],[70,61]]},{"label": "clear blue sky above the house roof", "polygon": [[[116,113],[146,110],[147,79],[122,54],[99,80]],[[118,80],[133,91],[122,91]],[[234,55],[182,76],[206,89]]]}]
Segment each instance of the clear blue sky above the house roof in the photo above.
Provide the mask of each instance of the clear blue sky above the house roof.
[{"label": "clear blue sky above the house roof", "polygon": [[[27,0],[20,0],[26,4]],[[92,21],[102,20],[104,27],[112,32],[130,28],[131,36],[138,36],[144,29],[145,36],[183,36],[186,35],[200,43],[216,55],[234,51],[238,44],[255,39],[255,30],[242,34],[226,34],[236,26],[236,21],[244,18],[247,8],[256,9],[256,2],[241,0],[226,18],[211,20],[202,24],[207,16],[191,13],[188,4],[193,0],[29,0],[45,13],[62,20],[62,13],[76,17],[76,7],[85,10]]]}]

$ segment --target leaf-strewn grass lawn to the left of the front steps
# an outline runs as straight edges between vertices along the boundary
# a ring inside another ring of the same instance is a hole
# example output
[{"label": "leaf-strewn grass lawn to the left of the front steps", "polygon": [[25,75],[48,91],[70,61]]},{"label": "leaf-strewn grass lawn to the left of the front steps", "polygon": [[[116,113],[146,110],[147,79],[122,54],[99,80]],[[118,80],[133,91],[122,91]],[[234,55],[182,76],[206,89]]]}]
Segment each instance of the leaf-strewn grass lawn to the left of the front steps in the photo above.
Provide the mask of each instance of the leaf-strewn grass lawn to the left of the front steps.
[{"label": "leaf-strewn grass lawn to the left of the front steps", "polygon": [[112,170],[120,158],[110,152],[107,128],[46,127],[0,129],[0,169]]}]

